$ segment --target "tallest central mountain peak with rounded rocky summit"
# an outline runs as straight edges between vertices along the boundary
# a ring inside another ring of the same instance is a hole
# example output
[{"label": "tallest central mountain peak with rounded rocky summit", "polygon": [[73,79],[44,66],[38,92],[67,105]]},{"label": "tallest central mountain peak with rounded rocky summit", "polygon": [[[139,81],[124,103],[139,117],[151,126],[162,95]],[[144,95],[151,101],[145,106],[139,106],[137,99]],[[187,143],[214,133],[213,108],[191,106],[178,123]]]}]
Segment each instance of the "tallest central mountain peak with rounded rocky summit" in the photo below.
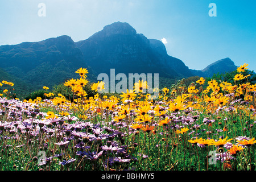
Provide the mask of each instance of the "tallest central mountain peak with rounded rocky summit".
[{"label": "tallest central mountain peak with rounded rocky summit", "polygon": [[166,47],[155,39],[147,39],[128,23],[115,22],[86,40],[76,42],[86,63],[97,74],[159,73],[159,77],[183,78],[192,72],[183,61],[167,55]]}]

